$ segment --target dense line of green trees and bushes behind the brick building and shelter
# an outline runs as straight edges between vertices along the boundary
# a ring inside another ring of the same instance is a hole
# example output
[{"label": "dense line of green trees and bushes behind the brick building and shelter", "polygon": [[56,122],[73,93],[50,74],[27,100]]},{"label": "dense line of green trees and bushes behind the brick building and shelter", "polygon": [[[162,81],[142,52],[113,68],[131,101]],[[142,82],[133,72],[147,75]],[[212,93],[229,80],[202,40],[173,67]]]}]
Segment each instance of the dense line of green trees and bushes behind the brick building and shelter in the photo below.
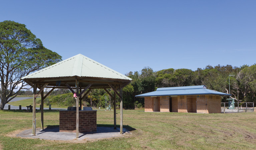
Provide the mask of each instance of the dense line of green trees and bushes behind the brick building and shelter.
[{"label": "dense line of green trees and bushes behind the brick building and shelter", "polygon": [[[144,98],[136,98],[135,95],[152,92],[162,87],[193,85],[206,85],[207,89],[223,93],[230,92],[231,97],[239,102],[256,102],[256,64],[240,67],[232,67],[231,65],[217,65],[213,67],[208,65],[203,69],[198,68],[195,71],[173,68],[154,71],[150,67],[145,67],[141,71],[130,71],[125,75],[133,79],[129,85],[123,88],[123,107],[125,109],[144,106]],[[111,89],[109,89],[109,92],[113,95]],[[53,101],[54,96],[65,93],[70,93],[70,91],[68,89],[54,90],[49,99],[47,99],[47,102],[51,101],[51,97]],[[108,105],[110,102],[113,106],[113,100],[103,89],[92,89],[83,100],[83,105],[104,108],[105,96],[108,98]],[[72,98],[71,95],[70,98]],[[226,102],[227,98],[229,97],[223,97],[222,102]],[[56,102],[56,100],[54,101]],[[119,107],[120,101],[118,97],[116,97],[116,101],[117,107]],[[69,104],[75,104],[75,100],[70,101]]]}]

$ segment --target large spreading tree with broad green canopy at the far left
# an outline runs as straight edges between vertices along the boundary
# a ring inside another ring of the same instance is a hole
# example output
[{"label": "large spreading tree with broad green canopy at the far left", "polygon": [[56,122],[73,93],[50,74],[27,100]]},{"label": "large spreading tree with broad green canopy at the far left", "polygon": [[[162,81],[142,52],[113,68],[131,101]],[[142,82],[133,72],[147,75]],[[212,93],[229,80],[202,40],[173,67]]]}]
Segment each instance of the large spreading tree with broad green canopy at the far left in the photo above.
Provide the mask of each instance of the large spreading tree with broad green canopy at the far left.
[{"label": "large spreading tree with broad green canopy at the far left", "polygon": [[24,24],[14,21],[0,22],[0,55],[0,109],[21,89],[29,89],[21,77],[61,60],[60,55],[46,49]]}]

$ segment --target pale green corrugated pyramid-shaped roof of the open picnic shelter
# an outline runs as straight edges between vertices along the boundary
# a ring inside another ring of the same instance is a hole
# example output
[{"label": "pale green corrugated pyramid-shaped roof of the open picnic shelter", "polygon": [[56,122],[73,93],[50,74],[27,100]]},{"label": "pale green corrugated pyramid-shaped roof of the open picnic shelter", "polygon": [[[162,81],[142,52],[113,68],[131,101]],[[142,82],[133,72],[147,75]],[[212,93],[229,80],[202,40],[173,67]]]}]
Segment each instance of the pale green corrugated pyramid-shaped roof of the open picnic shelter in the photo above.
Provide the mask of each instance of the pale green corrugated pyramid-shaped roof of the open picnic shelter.
[{"label": "pale green corrugated pyramid-shaped roof of the open picnic shelter", "polygon": [[125,75],[110,69],[82,54],[75,55],[42,70],[29,74],[21,79],[51,77],[99,77],[132,80]]}]

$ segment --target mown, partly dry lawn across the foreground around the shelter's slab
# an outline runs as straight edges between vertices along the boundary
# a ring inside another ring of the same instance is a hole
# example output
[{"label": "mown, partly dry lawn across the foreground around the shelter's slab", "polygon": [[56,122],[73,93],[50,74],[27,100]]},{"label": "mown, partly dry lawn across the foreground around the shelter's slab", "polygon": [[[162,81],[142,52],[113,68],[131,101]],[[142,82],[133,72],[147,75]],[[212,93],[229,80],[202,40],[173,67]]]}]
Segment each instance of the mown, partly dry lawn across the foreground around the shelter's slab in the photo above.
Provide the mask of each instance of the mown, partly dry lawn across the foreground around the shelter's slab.
[{"label": "mown, partly dry lawn across the foreground around the shelter's slab", "polygon": [[[40,128],[40,116],[40,112],[36,113],[37,128]],[[112,124],[113,111],[97,111],[98,126]],[[123,124],[124,128],[134,129],[131,136],[94,142],[23,139],[8,135],[32,128],[32,113],[0,110],[0,149],[256,149],[256,112],[195,114],[124,110]],[[44,125],[59,125],[59,112],[45,111]]]}]

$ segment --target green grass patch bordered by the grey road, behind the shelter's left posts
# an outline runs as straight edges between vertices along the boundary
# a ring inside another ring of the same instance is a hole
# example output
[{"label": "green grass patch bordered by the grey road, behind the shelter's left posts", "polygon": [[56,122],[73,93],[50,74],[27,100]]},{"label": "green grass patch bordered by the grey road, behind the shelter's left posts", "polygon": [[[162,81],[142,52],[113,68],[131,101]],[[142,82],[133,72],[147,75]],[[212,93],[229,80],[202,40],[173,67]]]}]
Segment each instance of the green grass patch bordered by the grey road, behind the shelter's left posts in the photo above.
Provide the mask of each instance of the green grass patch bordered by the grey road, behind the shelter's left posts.
[{"label": "green grass patch bordered by the grey road, behind the shelter's left posts", "polygon": [[[40,101],[41,104],[41,98],[36,98],[36,101]],[[15,102],[9,102],[8,104],[13,105],[13,106],[19,106],[21,105],[22,107],[26,107],[29,105],[33,105],[33,98],[31,99],[24,99],[24,100],[20,100],[20,101],[15,101]],[[36,104],[36,107],[40,107],[40,104]],[[49,107],[47,105],[44,104],[44,107]],[[58,105],[51,105],[51,108],[67,108],[67,106],[58,106]]]}]

